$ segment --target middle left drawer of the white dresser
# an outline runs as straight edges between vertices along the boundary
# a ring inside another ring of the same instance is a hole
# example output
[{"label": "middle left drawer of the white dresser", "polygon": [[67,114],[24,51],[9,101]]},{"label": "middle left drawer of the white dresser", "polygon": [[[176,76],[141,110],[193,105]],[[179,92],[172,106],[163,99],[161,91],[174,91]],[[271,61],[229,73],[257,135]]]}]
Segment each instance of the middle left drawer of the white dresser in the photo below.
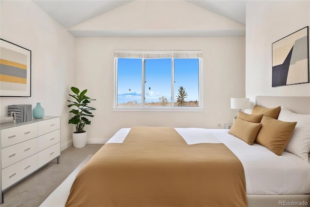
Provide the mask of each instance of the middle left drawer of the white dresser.
[{"label": "middle left drawer of the white dresser", "polygon": [[6,168],[38,152],[38,138],[3,148],[1,150],[1,168]]}]

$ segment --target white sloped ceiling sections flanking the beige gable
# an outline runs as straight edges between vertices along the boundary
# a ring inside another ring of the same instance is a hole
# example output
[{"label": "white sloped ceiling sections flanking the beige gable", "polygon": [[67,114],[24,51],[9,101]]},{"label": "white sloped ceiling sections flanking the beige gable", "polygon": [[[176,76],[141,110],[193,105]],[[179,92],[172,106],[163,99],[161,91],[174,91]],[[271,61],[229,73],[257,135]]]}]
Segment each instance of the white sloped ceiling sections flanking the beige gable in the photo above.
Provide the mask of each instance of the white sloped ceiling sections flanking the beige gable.
[{"label": "white sloped ceiling sections flanking the beige gable", "polygon": [[[132,0],[32,0],[32,1],[35,4],[37,4],[40,8],[42,8],[48,15],[54,18],[58,23],[60,23],[64,28],[69,29],[74,25],[77,25],[88,19],[91,19],[97,15],[102,15],[110,10],[113,10],[117,7],[127,4]],[[236,21],[243,25],[246,24],[246,0],[185,0],[185,1],[194,4],[196,6],[199,6],[203,9],[206,9],[210,12],[213,12],[217,15],[221,15],[226,18],[232,19],[233,21]],[[147,36],[147,35],[141,34],[141,36]],[[171,36],[173,36],[172,33]]]}]

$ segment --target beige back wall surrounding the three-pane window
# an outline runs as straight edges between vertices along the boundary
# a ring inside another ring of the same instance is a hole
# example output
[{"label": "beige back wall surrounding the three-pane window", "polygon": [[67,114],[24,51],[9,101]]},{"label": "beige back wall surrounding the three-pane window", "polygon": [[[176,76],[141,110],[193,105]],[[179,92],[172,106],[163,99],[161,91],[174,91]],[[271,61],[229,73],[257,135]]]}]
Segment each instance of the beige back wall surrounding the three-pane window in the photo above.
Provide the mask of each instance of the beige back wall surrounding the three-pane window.
[{"label": "beige back wall surrounding the three-pane window", "polygon": [[[202,50],[203,112],[113,112],[114,50]],[[237,114],[231,97],[245,97],[244,37],[77,38],[77,86],[97,99],[86,126],[89,142],[109,139],[132,126],[222,128]],[[217,123],[221,127],[217,127]]]}]

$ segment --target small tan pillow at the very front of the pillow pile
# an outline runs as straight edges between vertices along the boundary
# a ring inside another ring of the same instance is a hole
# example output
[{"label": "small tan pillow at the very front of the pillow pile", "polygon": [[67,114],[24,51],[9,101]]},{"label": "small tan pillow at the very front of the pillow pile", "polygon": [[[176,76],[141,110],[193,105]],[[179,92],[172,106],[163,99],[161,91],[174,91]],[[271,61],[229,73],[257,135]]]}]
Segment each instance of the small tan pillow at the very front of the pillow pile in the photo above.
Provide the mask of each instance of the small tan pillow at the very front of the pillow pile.
[{"label": "small tan pillow at the very front of the pillow pile", "polygon": [[261,126],[261,123],[252,123],[241,118],[236,118],[228,133],[238,137],[249,145],[253,145]]}]

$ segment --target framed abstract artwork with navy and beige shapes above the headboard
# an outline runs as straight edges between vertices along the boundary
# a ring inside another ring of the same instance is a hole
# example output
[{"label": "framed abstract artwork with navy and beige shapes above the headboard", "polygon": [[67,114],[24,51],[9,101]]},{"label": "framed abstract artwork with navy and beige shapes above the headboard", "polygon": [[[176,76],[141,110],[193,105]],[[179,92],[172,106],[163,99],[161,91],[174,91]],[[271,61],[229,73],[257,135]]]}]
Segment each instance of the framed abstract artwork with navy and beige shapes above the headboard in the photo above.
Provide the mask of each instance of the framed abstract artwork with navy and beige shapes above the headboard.
[{"label": "framed abstract artwork with navy and beige shapes above the headboard", "polygon": [[272,87],[309,83],[309,27],[272,44]]}]

